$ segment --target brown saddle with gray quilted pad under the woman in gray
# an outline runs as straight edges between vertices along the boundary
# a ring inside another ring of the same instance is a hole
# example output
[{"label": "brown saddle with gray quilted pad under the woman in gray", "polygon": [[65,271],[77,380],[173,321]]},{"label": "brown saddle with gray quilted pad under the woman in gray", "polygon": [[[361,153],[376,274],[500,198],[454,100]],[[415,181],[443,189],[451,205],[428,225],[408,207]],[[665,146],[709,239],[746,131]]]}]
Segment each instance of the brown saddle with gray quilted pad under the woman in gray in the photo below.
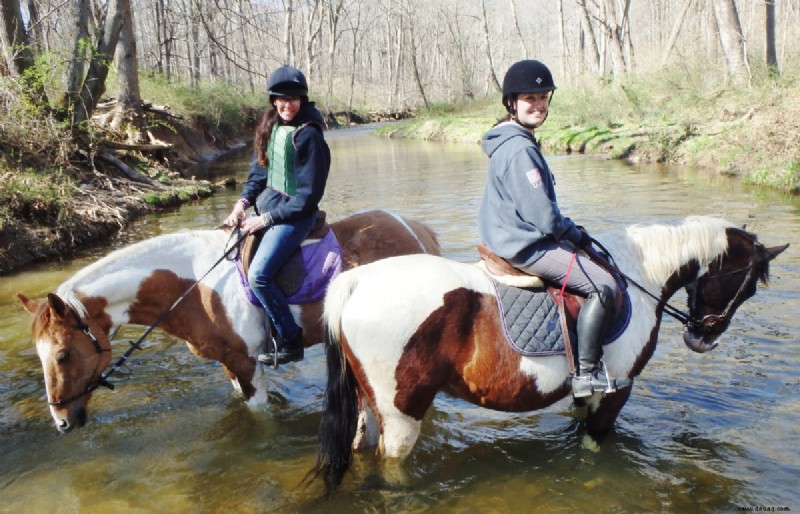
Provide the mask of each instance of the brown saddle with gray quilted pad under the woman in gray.
[{"label": "brown saddle with gray quilted pad under the woman in gray", "polygon": [[[589,252],[589,257],[616,277],[613,267],[593,253]],[[478,245],[478,255],[478,266],[496,282],[498,307],[511,347],[526,356],[566,354],[574,372],[577,319],[584,298],[514,267],[486,245]],[[618,295],[604,344],[619,337],[630,320],[630,299],[624,284],[620,287],[625,294]]]}]

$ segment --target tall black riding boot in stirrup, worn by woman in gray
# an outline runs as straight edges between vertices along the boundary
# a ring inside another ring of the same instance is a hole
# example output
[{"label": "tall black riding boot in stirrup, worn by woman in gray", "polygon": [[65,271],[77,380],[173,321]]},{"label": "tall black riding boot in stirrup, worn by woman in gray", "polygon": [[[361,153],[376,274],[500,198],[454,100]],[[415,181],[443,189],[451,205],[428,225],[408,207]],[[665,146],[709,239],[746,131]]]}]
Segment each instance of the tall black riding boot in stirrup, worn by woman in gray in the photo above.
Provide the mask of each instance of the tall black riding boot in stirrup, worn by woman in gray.
[{"label": "tall black riding boot in stirrup, worn by woman in gray", "polygon": [[578,371],[572,377],[572,395],[575,398],[591,396],[595,391],[612,393],[617,388],[631,385],[627,378],[610,381],[604,367],[600,367],[600,353],[613,302],[614,291],[603,286],[597,293],[589,295],[578,314]]}]

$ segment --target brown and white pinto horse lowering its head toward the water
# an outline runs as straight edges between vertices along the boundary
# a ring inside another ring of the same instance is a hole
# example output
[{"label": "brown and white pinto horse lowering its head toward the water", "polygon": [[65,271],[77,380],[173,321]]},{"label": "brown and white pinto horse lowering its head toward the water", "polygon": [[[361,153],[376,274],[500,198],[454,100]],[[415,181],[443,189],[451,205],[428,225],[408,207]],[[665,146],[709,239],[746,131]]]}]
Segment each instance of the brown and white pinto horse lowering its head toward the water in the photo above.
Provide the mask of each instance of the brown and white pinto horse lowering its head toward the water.
[{"label": "brown and white pinto horse lowering its head toward the water", "polygon": [[[439,255],[422,223],[386,211],[357,213],[331,224],[344,268],[395,255]],[[158,236],[117,250],[63,283],[47,300],[19,295],[33,314],[32,334],[47,400],[59,431],[86,422],[91,391],[111,362],[111,329],[153,324],[232,244],[223,230]],[[292,306],[306,346],[324,339],[322,301]],[[266,402],[266,373],[256,355],[267,340],[265,312],[246,298],[236,266],[222,260],[159,324],[200,357],[222,364],[245,400]]]}]

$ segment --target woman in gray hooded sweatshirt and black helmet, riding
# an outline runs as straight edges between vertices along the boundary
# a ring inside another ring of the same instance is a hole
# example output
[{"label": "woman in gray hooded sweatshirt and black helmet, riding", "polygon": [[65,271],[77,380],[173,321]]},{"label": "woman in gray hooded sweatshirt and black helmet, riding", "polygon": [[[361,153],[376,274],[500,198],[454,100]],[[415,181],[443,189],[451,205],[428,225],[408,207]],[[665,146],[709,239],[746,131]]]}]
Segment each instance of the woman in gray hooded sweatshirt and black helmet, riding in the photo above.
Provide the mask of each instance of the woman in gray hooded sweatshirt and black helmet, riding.
[{"label": "woman in gray hooded sweatshirt and black helmet, riding", "polygon": [[[606,389],[600,353],[617,285],[606,270],[576,248],[591,238],[561,214],[555,178],[533,131],[544,123],[556,86],[539,61],[511,66],[503,79],[508,116],[483,136],[489,172],[478,216],[484,243],[517,268],[564,284],[586,297],[578,316],[578,370],[572,379],[576,398]],[[573,261],[574,259],[574,261]]]}]

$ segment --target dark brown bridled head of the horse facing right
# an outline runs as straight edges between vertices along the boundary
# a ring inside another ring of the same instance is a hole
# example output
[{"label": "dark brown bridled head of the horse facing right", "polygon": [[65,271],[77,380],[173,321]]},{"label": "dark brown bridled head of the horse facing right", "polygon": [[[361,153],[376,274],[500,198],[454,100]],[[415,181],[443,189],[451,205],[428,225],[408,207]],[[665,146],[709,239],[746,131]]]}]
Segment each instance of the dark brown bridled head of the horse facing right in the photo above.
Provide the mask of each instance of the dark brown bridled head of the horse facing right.
[{"label": "dark brown bridled head of the horse facing right", "polygon": [[756,293],[758,282],[767,284],[769,262],[789,247],[767,248],[754,234],[738,228],[726,231],[728,248],[697,278],[686,285],[689,322],[683,341],[692,350],[713,350],[717,338],[728,329],[731,318]]}]

